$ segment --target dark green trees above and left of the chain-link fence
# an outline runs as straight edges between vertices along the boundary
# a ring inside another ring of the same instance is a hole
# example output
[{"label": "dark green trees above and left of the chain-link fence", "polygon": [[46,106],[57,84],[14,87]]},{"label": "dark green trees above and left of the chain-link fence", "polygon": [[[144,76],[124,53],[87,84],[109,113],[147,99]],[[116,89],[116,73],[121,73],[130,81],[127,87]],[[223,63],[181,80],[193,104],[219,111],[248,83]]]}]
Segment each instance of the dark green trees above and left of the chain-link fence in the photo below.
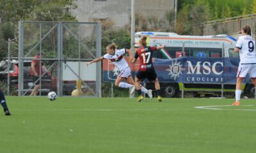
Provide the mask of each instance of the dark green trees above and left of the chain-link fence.
[{"label": "dark green trees above and left of the chain-link fence", "polygon": [[[76,21],[76,17],[70,14],[71,9],[77,8],[74,1],[76,0],[0,0],[0,59],[6,57],[7,40],[15,38],[15,27],[19,20]],[[38,33],[33,35],[38,36]],[[54,38],[45,40],[50,39]],[[33,43],[31,41],[30,45]],[[54,50],[51,47],[48,49]]]}]

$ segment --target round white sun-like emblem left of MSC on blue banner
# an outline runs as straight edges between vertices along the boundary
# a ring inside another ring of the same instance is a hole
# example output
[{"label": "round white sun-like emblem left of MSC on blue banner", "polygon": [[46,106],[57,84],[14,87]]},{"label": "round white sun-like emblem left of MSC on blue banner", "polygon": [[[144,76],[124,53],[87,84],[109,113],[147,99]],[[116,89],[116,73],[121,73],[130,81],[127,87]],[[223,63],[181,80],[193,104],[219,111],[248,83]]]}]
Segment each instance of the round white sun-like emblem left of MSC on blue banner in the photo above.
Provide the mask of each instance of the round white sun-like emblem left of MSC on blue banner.
[{"label": "round white sun-like emblem left of MSC on blue banner", "polygon": [[172,65],[169,66],[170,68],[166,69],[166,71],[169,71],[168,75],[171,75],[171,78],[176,80],[177,77],[180,77],[184,68],[182,68],[182,64],[180,64],[180,62],[177,62],[177,60],[175,60],[175,62],[172,62]]}]

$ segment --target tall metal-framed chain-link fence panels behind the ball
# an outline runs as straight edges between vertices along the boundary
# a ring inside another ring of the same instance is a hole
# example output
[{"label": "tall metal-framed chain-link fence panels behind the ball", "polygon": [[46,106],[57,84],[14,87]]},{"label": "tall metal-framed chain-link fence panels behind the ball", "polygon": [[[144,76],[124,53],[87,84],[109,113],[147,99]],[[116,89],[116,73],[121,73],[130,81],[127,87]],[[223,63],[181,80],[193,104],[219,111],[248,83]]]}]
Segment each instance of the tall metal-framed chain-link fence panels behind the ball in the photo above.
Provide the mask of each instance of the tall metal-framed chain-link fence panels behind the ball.
[{"label": "tall metal-framed chain-link fence panels behind the ball", "polygon": [[19,22],[19,95],[99,97],[100,40],[100,22]]}]

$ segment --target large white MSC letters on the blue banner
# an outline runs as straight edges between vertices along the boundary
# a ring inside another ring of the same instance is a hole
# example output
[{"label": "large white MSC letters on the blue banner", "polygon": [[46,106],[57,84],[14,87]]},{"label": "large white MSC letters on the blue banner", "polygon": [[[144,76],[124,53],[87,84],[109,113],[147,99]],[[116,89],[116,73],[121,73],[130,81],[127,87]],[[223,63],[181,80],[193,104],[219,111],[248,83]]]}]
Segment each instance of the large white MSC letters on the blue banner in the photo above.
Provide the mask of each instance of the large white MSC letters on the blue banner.
[{"label": "large white MSC letters on the blue banner", "polygon": [[[223,67],[223,62],[214,62],[211,66],[211,62],[196,62],[195,67],[193,67],[193,64],[191,61],[188,62],[188,73],[187,74],[196,74],[196,75],[209,75],[211,72],[215,75],[221,75],[223,73],[223,70],[217,71],[216,67],[221,66]],[[202,64],[202,68],[200,65]]]}]

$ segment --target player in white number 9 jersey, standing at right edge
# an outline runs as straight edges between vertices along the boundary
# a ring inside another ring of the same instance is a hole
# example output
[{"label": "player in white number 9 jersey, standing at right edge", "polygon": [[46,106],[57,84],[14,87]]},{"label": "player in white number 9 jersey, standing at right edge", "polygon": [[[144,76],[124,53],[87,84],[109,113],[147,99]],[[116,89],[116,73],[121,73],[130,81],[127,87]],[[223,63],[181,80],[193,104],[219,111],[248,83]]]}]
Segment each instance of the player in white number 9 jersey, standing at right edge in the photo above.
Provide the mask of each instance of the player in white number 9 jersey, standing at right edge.
[{"label": "player in white number 9 jersey, standing at right edge", "polygon": [[251,36],[251,28],[246,25],[243,27],[242,36],[237,40],[235,52],[239,52],[240,63],[237,69],[236,83],[236,102],[234,106],[240,105],[241,85],[247,74],[250,75],[252,84],[256,85],[256,50],[255,39]]}]

